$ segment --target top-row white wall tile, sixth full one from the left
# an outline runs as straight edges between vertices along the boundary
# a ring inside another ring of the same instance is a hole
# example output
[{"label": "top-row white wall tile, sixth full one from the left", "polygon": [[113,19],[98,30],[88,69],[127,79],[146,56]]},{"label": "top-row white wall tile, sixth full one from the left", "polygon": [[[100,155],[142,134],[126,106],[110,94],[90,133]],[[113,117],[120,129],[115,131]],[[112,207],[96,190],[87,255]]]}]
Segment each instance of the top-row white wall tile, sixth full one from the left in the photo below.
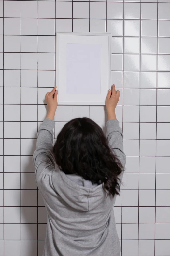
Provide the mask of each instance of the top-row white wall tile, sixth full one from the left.
[{"label": "top-row white wall tile, sixth full one from the left", "polygon": [[[86,6],[88,6],[88,8],[89,8],[88,3],[86,3]],[[78,18],[84,18],[84,17],[79,16]],[[89,18],[89,16],[86,16],[85,18]],[[90,3],[90,19],[106,19],[106,3],[91,2]]]}]

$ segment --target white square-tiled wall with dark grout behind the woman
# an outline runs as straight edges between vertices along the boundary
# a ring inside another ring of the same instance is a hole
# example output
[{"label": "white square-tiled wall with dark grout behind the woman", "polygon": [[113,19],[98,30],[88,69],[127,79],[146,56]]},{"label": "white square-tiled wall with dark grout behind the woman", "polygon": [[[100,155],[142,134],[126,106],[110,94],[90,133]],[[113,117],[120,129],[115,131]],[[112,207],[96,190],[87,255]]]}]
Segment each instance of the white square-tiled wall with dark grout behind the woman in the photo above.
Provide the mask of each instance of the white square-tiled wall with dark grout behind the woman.
[{"label": "white square-tiled wall with dark grout behind the woman", "polygon": [[[46,211],[32,155],[55,81],[55,31],[112,33],[127,155],[115,205],[122,256],[169,256],[170,0],[1,0],[0,17],[0,256],[42,256]],[[106,130],[104,107],[58,106],[55,138],[77,116]]]}]

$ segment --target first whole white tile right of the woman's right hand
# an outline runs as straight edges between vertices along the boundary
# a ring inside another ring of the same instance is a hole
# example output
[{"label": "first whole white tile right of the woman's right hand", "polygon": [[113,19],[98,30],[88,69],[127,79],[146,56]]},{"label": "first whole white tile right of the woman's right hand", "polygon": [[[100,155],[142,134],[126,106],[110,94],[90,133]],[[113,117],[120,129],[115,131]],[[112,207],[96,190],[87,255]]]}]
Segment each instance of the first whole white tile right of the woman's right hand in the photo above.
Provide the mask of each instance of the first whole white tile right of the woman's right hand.
[{"label": "first whole white tile right of the woman's right hand", "polygon": [[123,104],[124,105],[139,105],[140,89],[123,89]]}]

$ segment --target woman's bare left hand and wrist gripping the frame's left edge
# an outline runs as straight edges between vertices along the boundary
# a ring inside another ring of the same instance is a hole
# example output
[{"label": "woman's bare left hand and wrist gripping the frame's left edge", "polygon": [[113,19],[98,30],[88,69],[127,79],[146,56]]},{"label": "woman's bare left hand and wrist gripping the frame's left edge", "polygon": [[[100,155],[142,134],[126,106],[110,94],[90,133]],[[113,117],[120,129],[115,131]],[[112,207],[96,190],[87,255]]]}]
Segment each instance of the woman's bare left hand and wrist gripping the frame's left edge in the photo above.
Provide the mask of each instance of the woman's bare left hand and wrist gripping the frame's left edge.
[{"label": "woman's bare left hand and wrist gripping the frame's left edge", "polygon": [[[57,94],[56,86],[52,89],[51,92],[46,94],[45,100],[47,102],[47,106],[49,108],[48,115],[46,118],[54,119],[55,111],[57,109]],[[50,116],[50,117],[49,117]]]}]

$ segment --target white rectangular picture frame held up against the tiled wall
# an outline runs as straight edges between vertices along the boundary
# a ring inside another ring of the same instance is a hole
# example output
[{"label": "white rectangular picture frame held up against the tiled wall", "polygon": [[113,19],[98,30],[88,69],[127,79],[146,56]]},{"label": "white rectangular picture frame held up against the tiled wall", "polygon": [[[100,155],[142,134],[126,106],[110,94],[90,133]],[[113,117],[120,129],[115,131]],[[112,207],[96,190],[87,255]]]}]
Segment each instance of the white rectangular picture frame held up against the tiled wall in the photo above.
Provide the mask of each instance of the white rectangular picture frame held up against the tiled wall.
[{"label": "white rectangular picture frame held up against the tiled wall", "polygon": [[56,33],[59,105],[105,105],[110,76],[111,33]]}]

